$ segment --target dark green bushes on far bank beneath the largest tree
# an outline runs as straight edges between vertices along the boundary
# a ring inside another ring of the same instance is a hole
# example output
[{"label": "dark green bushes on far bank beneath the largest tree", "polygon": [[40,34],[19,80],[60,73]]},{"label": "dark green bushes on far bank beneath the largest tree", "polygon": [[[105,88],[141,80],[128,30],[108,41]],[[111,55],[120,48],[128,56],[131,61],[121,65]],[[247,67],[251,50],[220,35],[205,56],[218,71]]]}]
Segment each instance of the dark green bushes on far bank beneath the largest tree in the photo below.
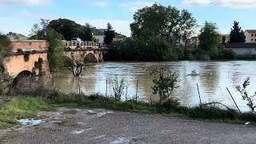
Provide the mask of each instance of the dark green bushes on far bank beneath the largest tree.
[{"label": "dark green bushes on far bank beneath the largest tree", "polygon": [[166,38],[126,38],[110,46],[114,60],[128,61],[170,61],[178,59],[178,50]]}]

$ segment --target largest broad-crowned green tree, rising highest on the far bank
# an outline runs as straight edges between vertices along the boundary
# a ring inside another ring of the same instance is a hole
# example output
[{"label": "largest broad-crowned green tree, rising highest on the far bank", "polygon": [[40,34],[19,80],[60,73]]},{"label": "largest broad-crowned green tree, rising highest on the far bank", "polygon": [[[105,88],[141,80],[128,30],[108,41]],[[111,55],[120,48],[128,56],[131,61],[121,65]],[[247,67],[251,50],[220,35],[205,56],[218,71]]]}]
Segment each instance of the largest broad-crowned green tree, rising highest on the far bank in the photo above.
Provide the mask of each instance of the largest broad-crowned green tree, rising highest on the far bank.
[{"label": "largest broad-crowned green tree, rising highest on the far bank", "polygon": [[132,36],[135,38],[165,37],[179,42],[187,38],[194,31],[196,20],[187,10],[178,10],[172,6],[162,6],[154,3],[144,7],[134,14],[134,22],[130,24]]}]

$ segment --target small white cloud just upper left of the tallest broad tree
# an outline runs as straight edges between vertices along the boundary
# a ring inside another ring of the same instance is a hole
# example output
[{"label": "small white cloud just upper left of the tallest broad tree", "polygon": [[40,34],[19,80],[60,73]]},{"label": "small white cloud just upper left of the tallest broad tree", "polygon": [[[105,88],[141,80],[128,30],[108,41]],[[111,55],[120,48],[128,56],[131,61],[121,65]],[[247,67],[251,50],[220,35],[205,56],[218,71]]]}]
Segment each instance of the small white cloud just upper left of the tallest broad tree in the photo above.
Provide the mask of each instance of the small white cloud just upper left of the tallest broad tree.
[{"label": "small white cloud just upper left of the tallest broad tree", "polygon": [[145,6],[152,6],[154,2],[145,2],[145,1],[136,1],[136,2],[122,2],[121,6],[126,8],[127,10],[130,10],[131,12],[135,12],[138,9],[142,9],[142,7]]}]

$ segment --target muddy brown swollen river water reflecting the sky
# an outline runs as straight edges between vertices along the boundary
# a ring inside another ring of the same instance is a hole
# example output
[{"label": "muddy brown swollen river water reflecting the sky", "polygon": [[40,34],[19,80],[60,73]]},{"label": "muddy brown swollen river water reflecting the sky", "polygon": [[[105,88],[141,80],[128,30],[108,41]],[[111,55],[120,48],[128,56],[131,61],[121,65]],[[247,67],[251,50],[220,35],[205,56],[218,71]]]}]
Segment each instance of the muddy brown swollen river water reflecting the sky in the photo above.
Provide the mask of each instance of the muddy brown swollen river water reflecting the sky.
[{"label": "muddy brown swollen river water reflecting the sky", "polygon": [[[241,94],[235,90],[235,86],[242,84],[250,77],[249,93],[256,91],[256,64],[254,61],[232,62],[102,62],[90,66],[82,72],[81,77],[74,78],[71,72],[63,69],[54,75],[55,86],[66,93],[78,93],[80,89],[84,94],[100,93],[113,95],[113,82],[125,78],[126,87],[122,99],[134,98],[138,80],[138,98],[150,101],[157,99],[151,87],[153,86],[149,72],[143,69],[147,66],[168,66],[179,74],[180,82],[174,90],[174,97],[186,106],[199,104],[197,83],[202,97],[202,102],[222,102],[234,107],[226,87],[230,89],[235,101],[243,111],[248,110],[246,102],[242,101]],[[192,70],[196,70],[198,76],[188,76]],[[106,82],[107,80],[107,82]],[[106,85],[107,83],[107,85]]]}]

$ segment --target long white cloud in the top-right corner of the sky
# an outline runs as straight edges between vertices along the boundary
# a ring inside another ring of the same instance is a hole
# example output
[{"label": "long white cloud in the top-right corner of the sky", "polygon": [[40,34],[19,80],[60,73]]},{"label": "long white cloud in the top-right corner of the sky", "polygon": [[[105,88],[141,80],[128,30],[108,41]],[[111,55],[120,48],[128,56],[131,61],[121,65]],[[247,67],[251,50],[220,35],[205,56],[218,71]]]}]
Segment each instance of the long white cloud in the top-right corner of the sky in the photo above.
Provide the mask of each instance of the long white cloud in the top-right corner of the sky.
[{"label": "long white cloud in the top-right corner of the sky", "polygon": [[256,0],[183,0],[185,6],[223,6],[231,8],[256,7]]}]

